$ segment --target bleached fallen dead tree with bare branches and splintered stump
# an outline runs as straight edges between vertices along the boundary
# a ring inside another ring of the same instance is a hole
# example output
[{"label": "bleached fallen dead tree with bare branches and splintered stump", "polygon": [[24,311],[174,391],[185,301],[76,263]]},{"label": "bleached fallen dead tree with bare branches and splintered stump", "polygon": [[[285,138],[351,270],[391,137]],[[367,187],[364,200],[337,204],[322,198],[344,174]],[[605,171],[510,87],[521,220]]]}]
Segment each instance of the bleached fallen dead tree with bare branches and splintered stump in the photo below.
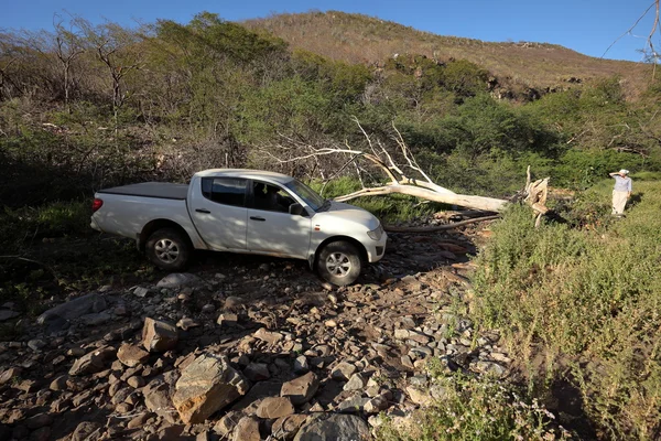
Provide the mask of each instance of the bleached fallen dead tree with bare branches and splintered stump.
[{"label": "bleached fallen dead tree with bare branches and splintered stump", "polygon": [[[358,159],[365,159],[380,170],[388,179],[388,182],[378,186],[365,186],[362,189],[335,197],[335,201],[346,202],[357,197],[365,196],[377,196],[388,194],[407,194],[422,200],[438,202],[449,205],[459,205],[463,207],[479,209],[484,212],[496,212],[499,213],[505,209],[509,201],[499,200],[494,197],[476,196],[457,194],[453,191],[445,189],[436,184],[432,179],[424,172],[419,165],[415,157],[411,152],[411,149],[404,142],[401,132],[397,129],[394,123],[392,140],[395,142],[397,148],[390,152],[379,140],[372,139],[360,125],[357,118],[354,118],[354,122],[358,126],[362,136],[366,139],[368,149],[357,150],[353,148],[348,142],[345,142],[344,147],[328,146],[328,147],[315,147],[301,140],[281,136],[283,141],[279,144],[270,144],[262,149],[262,152],[280,164],[286,164],[292,162],[301,162],[305,160],[318,160],[322,157],[328,155],[345,155],[348,157],[346,163],[339,168],[328,179],[333,179],[343,172],[349,164],[356,163]],[[282,158],[274,154],[273,151],[279,153],[285,153]],[[292,152],[294,154],[292,154]],[[402,164],[398,164],[394,160],[394,155],[399,155],[402,159]],[[409,171],[415,174],[412,176]],[[360,172],[358,172],[360,175]],[[530,179],[530,170],[529,170]],[[524,196],[527,202],[533,207],[535,213],[546,213],[545,208],[545,195],[549,179],[535,181],[534,183],[528,183]]]}]

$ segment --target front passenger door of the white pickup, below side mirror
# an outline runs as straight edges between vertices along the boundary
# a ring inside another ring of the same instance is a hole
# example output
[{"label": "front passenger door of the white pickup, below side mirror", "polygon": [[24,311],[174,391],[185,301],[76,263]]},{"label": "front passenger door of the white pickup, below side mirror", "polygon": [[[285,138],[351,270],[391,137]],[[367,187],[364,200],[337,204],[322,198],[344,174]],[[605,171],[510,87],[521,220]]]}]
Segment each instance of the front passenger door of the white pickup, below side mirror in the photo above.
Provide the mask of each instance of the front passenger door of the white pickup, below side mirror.
[{"label": "front passenger door of the white pickup, below side mirror", "polygon": [[251,185],[248,249],[306,259],[311,217],[289,213],[289,206],[297,201],[284,189],[259,181]]}]

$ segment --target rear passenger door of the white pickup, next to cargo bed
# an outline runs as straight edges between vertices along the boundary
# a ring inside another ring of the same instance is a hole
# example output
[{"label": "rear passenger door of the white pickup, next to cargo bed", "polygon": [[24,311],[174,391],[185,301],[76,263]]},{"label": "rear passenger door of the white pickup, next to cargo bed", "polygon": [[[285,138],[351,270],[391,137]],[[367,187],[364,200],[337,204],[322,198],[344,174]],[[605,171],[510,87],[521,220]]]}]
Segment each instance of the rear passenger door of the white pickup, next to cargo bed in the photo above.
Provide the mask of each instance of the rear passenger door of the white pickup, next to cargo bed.
[{"label": "rear passenger door of the white pickup, next to cargo bed", "polygon": [[199,235],[214,250],[246,249],[247,180],[203,178],[191,197],[191,216]]}]

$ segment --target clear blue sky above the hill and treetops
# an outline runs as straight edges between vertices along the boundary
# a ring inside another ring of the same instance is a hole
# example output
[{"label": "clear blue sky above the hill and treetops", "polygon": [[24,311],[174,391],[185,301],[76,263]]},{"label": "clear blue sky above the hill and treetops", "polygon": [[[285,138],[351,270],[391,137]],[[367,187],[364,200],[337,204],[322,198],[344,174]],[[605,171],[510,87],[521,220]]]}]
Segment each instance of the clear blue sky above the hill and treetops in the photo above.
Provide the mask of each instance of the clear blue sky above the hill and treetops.
[{"label": "clear blue sky above the hill and treetops", "polygon": [[[441,35],[484,41],[534,41],[561,44],[602,56],[652,0],[0,0],[0,29],[51,29],[53,14],[66,11],[91,22],[131,25],[170,19],[188,22],[201,11],[240,21],[280,12],[339,10],[395,21]],[[606,54],[607,58],[640,61],[652,12]],[[661,46],[659,33],[653,39]]]}]

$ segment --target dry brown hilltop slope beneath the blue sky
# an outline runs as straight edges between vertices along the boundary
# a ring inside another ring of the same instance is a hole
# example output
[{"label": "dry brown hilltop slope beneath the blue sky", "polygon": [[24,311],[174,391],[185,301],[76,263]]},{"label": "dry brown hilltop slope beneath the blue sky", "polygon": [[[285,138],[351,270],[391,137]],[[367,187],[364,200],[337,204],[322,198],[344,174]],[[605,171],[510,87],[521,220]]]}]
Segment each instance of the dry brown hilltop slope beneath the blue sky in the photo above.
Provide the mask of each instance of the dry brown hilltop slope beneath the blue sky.
[{"label": "dry brown hilltop slope beneath the blue sky", "polygon": [[[625,89],[637,96],[649,83],[649,66],[595,58],[548,43],[489,43],[421,32],[410,26],[338,11],[278,14],[243,23],[264,29],[292,49],[311,51],[349,63],[381,63],[393,54],[423,54],[446,61],[468,60],[487,68],[501,83],[544,90],[570,83],[620,75]],[[564,85],[564,86],[563,86]]]}]

